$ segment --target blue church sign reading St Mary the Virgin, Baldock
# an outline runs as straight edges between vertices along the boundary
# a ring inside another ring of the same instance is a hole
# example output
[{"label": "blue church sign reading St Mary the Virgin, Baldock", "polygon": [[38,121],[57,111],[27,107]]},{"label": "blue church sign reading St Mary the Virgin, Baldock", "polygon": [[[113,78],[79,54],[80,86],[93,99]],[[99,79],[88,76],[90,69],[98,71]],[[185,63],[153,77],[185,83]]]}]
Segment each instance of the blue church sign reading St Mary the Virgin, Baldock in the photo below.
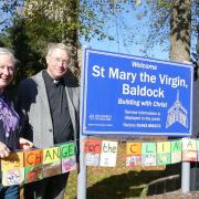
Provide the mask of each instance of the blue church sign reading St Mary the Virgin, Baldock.
[{"label": "blue church sign reading St Mary the Virgin, Baldock", "polygon": [[192,65],[91,49],[83,62],[83,135],[191,135]]}]

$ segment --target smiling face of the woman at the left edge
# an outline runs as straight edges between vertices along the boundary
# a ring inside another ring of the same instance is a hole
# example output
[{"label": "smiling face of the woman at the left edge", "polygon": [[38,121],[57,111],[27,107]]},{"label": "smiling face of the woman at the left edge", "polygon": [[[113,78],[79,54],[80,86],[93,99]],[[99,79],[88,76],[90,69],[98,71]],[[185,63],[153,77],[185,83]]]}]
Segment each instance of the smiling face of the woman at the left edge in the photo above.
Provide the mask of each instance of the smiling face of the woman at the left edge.
[{"label": "smiling face of the woman at the left edge", "polygon": [[10,54],[0,55],[0,93],[4,91],[4,87],[8,86],[14,74],[14,61]]}]

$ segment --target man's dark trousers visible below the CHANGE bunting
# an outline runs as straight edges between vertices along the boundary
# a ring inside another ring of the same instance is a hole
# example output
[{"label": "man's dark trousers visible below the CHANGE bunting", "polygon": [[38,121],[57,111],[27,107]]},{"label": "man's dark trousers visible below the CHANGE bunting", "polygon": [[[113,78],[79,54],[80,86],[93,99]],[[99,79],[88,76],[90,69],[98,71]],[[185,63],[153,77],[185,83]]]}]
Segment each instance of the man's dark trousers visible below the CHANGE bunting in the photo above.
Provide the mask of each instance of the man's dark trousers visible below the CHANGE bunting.
[{"label": "man's dark trousers visible below the CHANGE bunting", "polygon": [[24,199],[63,199],[69,174],[24,185]]}]

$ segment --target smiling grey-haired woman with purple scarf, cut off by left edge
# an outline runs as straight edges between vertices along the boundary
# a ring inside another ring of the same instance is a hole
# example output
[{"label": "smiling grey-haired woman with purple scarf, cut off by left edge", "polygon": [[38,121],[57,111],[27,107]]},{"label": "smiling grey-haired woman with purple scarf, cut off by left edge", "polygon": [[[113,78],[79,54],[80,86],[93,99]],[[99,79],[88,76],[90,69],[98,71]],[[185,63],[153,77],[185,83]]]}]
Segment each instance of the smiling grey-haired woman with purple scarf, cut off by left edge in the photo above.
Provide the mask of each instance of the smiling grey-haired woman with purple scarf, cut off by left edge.
[{"label": "smiling grey-haired woman with purple scarf, cut off by left edge", "polygon": [[[31,142],[19,138],[19,116],[6,94],[6,87],[13,80],[15,63],[13,53],[9,49],[0,48],[0,158],[8,157],[19,146],[23,149],[32,147]],[[19,199],[19,186],[0,185],[0,198]]]}]

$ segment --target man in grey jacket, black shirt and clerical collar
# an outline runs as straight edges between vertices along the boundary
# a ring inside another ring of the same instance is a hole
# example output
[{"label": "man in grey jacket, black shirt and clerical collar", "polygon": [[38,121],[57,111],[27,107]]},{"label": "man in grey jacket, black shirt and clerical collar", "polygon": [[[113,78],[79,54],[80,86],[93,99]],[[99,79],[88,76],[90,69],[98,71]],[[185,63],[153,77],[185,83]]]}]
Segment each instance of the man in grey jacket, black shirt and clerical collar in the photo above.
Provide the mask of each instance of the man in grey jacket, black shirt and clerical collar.
[{"label": "man in grey jacket, black shirt and clerical collar", "polygon": [[[46,70],[20,83],[18,111],[21,135],[38,148],[78,140],[80,86],[70,77],[71,52],[63,43],[50,43]],[[27,184],[24,198],[63,198],[67,174]]]}]

